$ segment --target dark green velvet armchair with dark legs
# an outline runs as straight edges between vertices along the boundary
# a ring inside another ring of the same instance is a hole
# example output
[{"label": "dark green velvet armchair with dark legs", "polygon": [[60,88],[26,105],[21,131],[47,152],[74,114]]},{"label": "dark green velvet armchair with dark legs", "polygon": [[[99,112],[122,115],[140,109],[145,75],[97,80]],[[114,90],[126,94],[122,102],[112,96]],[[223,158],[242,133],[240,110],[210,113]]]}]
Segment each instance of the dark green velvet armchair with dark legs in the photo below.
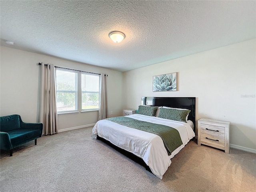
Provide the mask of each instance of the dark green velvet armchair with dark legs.
[{"label": "dark green velvet armchair with dark legs", "polygon": [[19,115],[0,117],[0,148],[9,150],[12,156],[13,148],[35,140],[42,136],[42,123],[22,122]]}]

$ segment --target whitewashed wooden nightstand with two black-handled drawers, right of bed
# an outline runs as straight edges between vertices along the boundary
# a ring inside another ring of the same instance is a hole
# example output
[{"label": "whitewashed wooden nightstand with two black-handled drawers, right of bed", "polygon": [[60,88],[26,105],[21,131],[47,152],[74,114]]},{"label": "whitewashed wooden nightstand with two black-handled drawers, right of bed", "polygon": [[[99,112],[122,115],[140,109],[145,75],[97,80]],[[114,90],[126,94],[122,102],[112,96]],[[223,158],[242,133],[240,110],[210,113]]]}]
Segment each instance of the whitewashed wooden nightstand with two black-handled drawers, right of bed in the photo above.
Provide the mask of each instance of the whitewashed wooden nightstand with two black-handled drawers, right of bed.
[{"label": "whitewashed wooden nightstand with two black-handled drawers, right of bed", "polygon": [[202,118],[198,120],[198,145],[225,150],[229,154],[230,122]]}]

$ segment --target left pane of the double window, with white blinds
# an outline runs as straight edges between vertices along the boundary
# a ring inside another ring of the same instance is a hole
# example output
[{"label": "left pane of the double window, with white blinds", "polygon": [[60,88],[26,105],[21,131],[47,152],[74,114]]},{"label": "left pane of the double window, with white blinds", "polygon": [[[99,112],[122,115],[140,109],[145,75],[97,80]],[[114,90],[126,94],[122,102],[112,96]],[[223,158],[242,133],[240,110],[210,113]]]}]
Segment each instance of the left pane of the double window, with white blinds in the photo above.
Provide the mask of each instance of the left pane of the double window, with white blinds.
[{"label": "left pane of the double window, with white blinds", "polygon": [[57,112],[77,111],[78,73],[56,70]]}]

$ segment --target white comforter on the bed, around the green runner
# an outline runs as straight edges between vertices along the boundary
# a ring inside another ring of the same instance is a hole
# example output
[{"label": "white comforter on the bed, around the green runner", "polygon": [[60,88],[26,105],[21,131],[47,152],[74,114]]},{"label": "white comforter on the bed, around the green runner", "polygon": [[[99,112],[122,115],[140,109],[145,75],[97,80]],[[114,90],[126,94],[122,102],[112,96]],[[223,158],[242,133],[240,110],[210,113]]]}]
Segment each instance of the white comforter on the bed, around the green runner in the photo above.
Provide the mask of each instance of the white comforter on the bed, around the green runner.
[{"label": "white comforter on the bed, around the green runner", "polygon": [[158,135],[126,127],[108,120],[98,121],[92,129],[92,134],[98,134],[98,136],[110,141],[112,144],[142,158],[150,167],[152,173],[162,179],[162,176],[171,164],[170,158],[174,157],[195,136],[194,131],[188,123],[184,122],[140,114],[126,117],[170,126],[180,133],[183,144],[168,156],[163,140]]}]

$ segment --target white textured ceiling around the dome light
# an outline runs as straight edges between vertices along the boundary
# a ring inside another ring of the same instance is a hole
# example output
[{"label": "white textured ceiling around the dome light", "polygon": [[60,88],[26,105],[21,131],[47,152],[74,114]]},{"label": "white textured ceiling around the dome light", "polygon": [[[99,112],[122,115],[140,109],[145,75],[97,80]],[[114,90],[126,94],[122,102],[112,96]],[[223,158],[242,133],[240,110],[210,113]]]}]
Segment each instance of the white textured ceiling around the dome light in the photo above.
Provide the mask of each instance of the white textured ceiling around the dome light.
[{"label": "white textured ceiling around the dome light", "polygon": [[[1,0],[0,7],[1,45],[121,72],[256,38],[256,1]],[[108,37],[114,30],[126,34],[119,44]]]}]

